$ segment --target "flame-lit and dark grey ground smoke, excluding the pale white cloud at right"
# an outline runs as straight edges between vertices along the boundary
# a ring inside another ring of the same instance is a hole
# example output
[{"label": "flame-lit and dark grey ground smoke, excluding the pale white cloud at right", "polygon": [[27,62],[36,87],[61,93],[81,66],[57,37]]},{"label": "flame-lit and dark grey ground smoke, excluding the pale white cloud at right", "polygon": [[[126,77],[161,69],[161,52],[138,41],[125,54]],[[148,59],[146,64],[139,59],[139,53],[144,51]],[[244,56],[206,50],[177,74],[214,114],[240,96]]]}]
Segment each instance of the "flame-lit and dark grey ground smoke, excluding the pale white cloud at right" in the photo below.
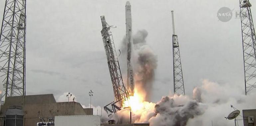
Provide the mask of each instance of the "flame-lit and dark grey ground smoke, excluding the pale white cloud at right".
[{"label": "flame-lit and dark grey ground smoke, excluding the pale white cloud at right", "polygon": [[[186,126],[189,119],[204,113],[206,107],[187,96],[164,96],[157,104],[143,102],[143,108],[132,113],[132,123],[150,123],[150,126]],[[117,112],[111,119],[117,123],[130,122],[129,109]]]}]

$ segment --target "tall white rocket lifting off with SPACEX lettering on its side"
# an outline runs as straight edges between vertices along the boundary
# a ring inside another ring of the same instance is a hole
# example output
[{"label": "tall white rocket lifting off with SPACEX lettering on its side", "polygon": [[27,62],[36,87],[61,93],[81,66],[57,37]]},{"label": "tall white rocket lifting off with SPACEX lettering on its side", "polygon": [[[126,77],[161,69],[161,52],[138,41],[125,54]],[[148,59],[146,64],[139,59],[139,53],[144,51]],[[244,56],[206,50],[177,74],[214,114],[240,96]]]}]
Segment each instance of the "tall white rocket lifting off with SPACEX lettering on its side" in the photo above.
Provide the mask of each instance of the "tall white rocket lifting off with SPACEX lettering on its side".
[{"label": "tall white rocket lifting off with SPACEX lettering on its side", "polygon": [[125,5],[126,44],[127,44],[127,90],[130,96],[134,94],[134,77],[132,67],[132,15],[129,1]]}]

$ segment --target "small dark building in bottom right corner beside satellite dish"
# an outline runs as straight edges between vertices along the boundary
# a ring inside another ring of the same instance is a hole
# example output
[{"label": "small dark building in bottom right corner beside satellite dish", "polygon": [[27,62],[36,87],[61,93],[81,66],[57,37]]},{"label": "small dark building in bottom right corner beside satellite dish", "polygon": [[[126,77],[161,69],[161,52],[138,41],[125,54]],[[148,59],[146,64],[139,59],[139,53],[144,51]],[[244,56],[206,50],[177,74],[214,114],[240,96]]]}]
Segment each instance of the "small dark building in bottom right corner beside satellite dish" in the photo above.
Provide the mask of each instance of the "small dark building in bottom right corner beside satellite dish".
[{"label": "small dark building in bottom right corner beside satellite dish", "polygon": [[244,126],[256,126],[256,109],[243,110]]}]

